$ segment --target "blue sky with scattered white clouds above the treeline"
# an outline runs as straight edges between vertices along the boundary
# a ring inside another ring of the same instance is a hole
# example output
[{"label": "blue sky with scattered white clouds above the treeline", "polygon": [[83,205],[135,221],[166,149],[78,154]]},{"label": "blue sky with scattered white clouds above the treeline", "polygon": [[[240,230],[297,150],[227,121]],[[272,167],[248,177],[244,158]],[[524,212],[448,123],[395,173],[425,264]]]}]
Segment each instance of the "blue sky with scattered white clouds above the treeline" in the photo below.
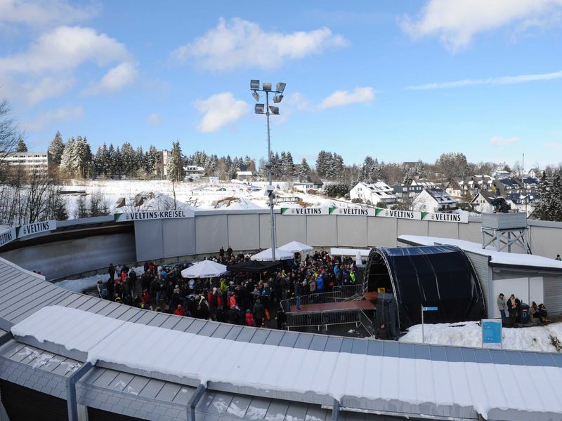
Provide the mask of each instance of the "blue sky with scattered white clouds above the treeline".
[{"label": "blue sky with scattered white clouds above the treeline", "polygon": [[249,80],[285,81],[272,149],[311,163],[562,161],[562,0],[0,0],[0,97],[44,150],[266,155]]}]

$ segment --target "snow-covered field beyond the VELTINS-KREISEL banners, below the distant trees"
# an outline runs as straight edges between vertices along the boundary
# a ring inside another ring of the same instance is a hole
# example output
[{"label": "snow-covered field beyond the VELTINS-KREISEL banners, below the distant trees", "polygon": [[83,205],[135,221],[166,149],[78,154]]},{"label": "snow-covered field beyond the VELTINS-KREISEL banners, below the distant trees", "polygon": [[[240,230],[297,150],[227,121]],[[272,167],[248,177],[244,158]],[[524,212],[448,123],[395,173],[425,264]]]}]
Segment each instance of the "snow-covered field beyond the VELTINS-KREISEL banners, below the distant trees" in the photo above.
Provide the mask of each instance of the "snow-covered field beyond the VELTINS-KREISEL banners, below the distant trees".
[{"label": "snow-covered field beyond the VELTINS-KREISEL banners, below the distant trees", "polygon": [[[268,208],[268,197],[264,194],[266,181],[251,182],[244,184],[237,180],[210,184],[207,182],[181,182],[171,183],[167,180],[71,180],[63,187],[63,191],[85,192],[86,201],[90,200],[92,194],[99,194],[105,200],[111,213],[131,212],[134,210],[166,210],[174,206],[174,195],[176,207],[199,208],[199,209],[263,209]],[[322,196],[293,192],[292,183],[274,181],[275,194],[278,197],[296,196],[301,199],[299,203],[277,203],[275,208],[291,207],[351,207],[358,208],[359,205],[351,201],[340,201],[326,199]],[[134,206],[135,197],[143,196],[144,203]],[[80,193],[65,194],[67,209],[70,218],[74,218],[78,207]],[[126,206],[116,208],[117,201],[124,198]]]}]

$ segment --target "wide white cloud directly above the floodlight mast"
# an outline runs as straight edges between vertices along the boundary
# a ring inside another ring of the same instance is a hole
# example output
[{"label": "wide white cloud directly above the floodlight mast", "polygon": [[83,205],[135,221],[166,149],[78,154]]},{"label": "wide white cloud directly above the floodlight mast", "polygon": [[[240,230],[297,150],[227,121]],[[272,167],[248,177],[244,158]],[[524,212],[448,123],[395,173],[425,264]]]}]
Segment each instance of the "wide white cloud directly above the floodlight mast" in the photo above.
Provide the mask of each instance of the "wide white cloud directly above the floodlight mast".
[{"label": "wide white cloud directly above the floodlight mast", "polygon": [[289,34],[266,32],[255,22],[240,18],[218,20],[207,34],[171,53],[179,62],[195,59],[203,69],[231,70],[238,67],[272,69],[287,60],[322,53],[327,48],[348,45],[343,36],[323,27]]}]

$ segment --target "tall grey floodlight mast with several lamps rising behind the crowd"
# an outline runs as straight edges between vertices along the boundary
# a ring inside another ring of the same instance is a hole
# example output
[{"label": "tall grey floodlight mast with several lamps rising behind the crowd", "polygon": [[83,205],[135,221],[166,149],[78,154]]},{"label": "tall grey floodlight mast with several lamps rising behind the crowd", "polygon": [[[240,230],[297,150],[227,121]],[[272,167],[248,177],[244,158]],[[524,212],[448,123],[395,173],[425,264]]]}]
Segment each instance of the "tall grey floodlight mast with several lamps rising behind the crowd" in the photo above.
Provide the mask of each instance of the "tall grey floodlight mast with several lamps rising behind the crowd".
[{"label": "tall grey floodlight mast with several lamps rising behind the crowd", "polygon": [[269,209],[270,209],[270,217],[271,217],[271,258],[275,262],[275,215],[273,214],[273,199],[275,195],[273,194],[273,172],[271,168],[271,144],[269,138],[269,116],[270,114],[275,114],[276,116],[279,115],[279,107],[275,107],[273,105],[269,105],[269,94],[274,93],[275,96],[273,97],[273,102],[275,104],[281,102],[283,99],[283,91],[285,91],[286,83],[277,82],[277,86],[275,86],[275,91],[272,91],[271,83],[263,82],[261,85],[261,89],[259,86],[259,80],[252,79],[250,81],[250,90],[254,91],[251,96],[254,99],[259,101],[259,93],[258,92],[265,92],[266,93],[266,103],[265,104],[256,104],[254,111],[256,114],[266,114],[266,120],[268,122],[268,163],[266,164],[266,168],[269,171],[269,185],[266,188],[269,196]]}]

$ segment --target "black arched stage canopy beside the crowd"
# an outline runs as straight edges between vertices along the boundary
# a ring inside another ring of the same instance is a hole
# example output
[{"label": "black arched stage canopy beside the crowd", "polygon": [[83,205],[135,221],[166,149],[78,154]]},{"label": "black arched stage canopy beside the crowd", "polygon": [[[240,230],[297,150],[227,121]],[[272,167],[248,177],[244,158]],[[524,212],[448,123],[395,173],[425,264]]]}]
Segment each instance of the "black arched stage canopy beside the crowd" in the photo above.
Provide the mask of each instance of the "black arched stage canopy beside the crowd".
[{"label": "black arched stage canopy beside the crowd", "polygon": [[[421,323],[478,321],[485,316],[480,283],[469,258],[457,246],[377,247],[365,268],[367,291],[377,294],[375,326],[392,337]],[[384,288],[381,289],[381,288]]]}]

